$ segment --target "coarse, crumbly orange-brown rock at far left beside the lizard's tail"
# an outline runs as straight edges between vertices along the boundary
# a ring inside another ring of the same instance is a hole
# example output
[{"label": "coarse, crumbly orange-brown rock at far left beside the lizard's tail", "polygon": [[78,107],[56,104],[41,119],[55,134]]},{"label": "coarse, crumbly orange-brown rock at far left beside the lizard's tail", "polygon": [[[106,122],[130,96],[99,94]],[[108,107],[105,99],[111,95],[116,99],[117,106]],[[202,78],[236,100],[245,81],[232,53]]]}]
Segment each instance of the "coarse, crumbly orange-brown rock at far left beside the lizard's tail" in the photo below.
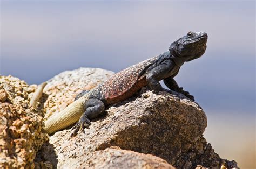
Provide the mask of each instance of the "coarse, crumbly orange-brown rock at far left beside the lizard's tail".
[{"label": "coarse, crumbly orange-brown rock at far left beside the lizard's tail", "polygon": [[43,117],[29,104],[35,85],[0,76],[0,168],[33,168],[33,160],[48,140],[41,132]]}]

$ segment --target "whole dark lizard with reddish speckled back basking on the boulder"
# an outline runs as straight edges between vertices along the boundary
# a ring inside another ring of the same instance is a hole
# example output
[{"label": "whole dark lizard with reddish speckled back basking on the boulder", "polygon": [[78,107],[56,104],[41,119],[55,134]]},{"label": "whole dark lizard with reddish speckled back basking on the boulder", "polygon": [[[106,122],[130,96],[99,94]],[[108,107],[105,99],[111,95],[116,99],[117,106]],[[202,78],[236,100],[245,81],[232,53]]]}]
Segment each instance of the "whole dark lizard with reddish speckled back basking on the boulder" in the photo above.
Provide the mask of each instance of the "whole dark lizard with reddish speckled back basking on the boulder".
[{"label": "whole dark lizard with reddish speckled back basking on the boulder", "polygon": [[194,97],[180,88],[173,78],[184,62],[204,54],[206,42],[205,32],[188,32],[186,36],[174,41],[169,51],[114,74],[89,92],[83,91],[76,97],[75,102],[45,122],[44,132],[54,133],[76,122],[71,137],[76,135],[80,128],[84,132],[85,128],[89,128],[90,120],[105,111],[106,105],[131,97],[144,86],[149,86],[156,93],[163,90],[160,80],[164,80],[171,90],[180,92],[194,101]]}]

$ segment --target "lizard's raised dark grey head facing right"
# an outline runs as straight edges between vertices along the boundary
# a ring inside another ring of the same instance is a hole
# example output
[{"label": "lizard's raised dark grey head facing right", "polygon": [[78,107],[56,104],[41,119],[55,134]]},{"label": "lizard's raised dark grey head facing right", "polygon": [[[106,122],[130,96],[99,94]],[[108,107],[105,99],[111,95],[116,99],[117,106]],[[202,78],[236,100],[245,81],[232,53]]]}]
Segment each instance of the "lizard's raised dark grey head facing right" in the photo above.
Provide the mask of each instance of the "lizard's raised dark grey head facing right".
[{"label": "lizard's raised dark grey head facing right", "polygon": [[205,32],[188,32],[171,44],[169,50],[174,57],[190,61],[201,57],[206,50],[207,34]]}]

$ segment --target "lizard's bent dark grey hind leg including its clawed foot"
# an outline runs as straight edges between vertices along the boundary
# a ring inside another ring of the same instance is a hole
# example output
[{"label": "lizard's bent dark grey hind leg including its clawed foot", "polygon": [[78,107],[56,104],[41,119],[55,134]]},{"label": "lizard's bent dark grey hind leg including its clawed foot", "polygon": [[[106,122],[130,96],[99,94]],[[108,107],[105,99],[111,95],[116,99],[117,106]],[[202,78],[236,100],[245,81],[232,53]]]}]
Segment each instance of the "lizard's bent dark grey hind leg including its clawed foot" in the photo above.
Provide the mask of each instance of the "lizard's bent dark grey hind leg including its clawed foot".
[{"label": "lizard's bent dark grey hind leg including its clawed foot", "polygon": [[85,112],[80,117],[79,121],[76,125],[72,127],[71,130],[71,137],[77,135],[77,132],[82,128],[82,131],[84,132],[85,128],[89,128],[89,125],[91,125],[91,119],[98,117],[100,114],[102,114],[105,111],[105,104],[97,99],[97,98],[90,98],[85,103]]}]

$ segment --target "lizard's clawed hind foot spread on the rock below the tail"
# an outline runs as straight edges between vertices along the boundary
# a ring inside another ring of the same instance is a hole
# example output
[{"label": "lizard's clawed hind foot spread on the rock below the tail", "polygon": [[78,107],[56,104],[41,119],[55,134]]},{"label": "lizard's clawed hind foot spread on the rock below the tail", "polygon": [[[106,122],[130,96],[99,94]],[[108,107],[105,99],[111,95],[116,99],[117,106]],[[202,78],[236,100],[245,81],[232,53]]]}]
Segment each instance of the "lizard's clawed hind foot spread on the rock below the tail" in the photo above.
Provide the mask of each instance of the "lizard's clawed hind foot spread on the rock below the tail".
[{"label": "lizard's clawed hind foot spread on the rock below the tail", "polygon": [[83,133],[85,133],[84,129],[85,128],[89,129],[89,125],[91,125],[90,119],[88,119],[85,115],[82,115],[82,117],[79,119],[77,124],[71,128],[71,130],[73,131],[70,135],[70,138],[72,138],[73,136],[76,136],[80,128],[82,128]]}]

